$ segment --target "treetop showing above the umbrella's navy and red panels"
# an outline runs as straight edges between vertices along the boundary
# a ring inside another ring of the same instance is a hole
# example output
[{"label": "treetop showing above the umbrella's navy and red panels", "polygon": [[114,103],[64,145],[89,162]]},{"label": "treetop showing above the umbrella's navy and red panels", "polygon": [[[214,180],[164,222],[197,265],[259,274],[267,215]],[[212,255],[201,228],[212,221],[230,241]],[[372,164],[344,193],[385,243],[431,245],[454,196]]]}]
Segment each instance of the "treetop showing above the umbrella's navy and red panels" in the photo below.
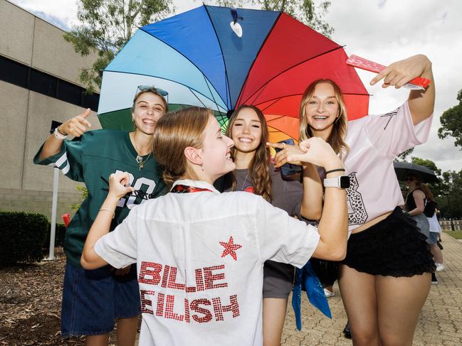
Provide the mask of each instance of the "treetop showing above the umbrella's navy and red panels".
[{"label": "treetop showing above the umbrella's navy and red panels", "polygon": [[256,5],[266,11],[284,11],[293,18],[305,23],[318,33],[330,37],[334,28],[324,21],[330,1],[324,0],[216,0],[220,6],[243,7]]}]

